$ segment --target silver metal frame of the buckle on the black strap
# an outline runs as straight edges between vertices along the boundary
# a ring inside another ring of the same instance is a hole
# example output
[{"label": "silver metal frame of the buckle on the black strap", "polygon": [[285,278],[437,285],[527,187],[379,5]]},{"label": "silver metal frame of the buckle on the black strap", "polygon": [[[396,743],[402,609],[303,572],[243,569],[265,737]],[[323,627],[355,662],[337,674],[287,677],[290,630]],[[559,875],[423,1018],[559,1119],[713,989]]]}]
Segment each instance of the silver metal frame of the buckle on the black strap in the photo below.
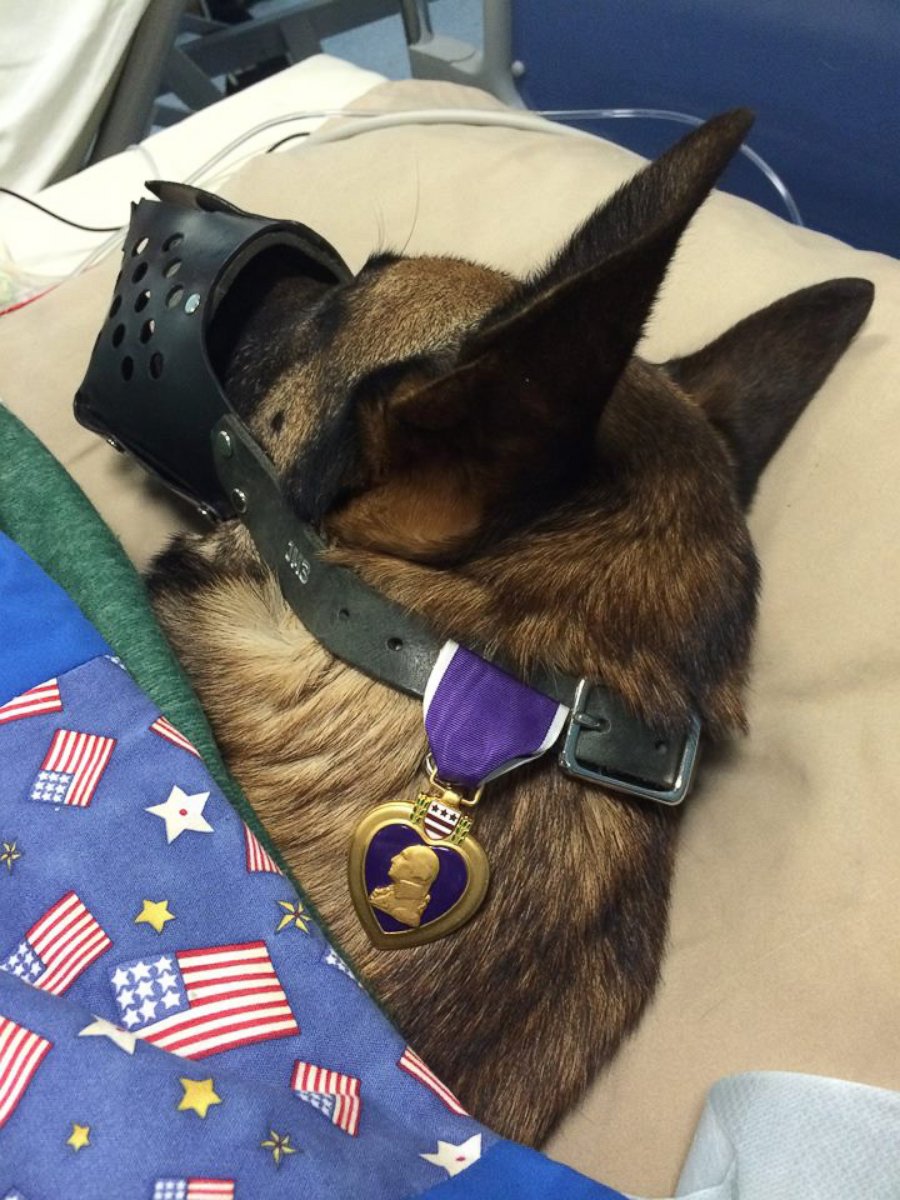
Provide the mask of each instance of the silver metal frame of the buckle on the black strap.
[{"label": "silver metal frame of the buckle on the black strap", "polygon": [[[586,733],[602,736],[610,731],[610,720],[598,719],[587,710],[590,689],[595,686],[588,679],[581,679],[575,691],[575,702],[569,716],[565,731],[563,749],[559,754],[559,766],[575,779],[584,780],[589,784],[601,784],[616,792],[624,792],[626,796],[636,796],[644,800],[655,800],[658,804],[680,804],[690,791],[694,780],[694,770],[697,764],[697,751],[700,748],[700,718],[691,716],[690,727],[684,736],[683,745],[677,760],[674,779],[670,778],[654,784],[648,779],[638,779],[624,772],[617,772],[614,761],[605,761],[602,764],[584,761],[583,755],[578,755],[578,743]],[[635,722],[634,718],[626,716],[623,712],[623,721]],[[641,725],[642,739],[649,743],[654,738],[647,726]],[[659,740],[654,738],[656,745]]]}]

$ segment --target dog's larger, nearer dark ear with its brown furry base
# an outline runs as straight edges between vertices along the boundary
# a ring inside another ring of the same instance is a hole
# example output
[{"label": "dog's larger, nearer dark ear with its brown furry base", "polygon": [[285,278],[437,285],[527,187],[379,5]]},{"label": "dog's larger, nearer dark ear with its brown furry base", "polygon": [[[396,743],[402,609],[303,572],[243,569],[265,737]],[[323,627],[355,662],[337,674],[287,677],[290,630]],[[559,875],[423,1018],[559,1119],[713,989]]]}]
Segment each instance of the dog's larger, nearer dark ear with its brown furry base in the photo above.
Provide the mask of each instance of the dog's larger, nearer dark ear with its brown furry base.
[{"label": "dog's larger, nearer dark ear with its brown furry base", "polygon": [[446,551],[486,520],[527,520],[577,482],[678,239],[751,124],[744,109],[714,118],[646,167],[487,316],[449,368],[407,364],[370,380],[359,410],[370,478],[383,485],[366,505],[376,540],[386,548],[392,527],[400,550],[415,523],[418,552]]}]

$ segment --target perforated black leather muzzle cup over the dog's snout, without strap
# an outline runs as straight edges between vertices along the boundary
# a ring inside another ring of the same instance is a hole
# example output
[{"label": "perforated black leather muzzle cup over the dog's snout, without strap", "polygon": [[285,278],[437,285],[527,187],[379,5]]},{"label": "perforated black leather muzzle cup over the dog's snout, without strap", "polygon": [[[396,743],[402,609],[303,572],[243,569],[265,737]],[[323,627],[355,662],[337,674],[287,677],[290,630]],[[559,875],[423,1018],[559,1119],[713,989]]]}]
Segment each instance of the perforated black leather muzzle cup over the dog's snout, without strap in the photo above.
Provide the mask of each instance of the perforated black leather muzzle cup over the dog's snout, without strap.
[{"label": "perforated black leather muzzle cup over the dog's snout, without strap", "polygon": [[74,401],[77,419],[128,450],[209,515],[234,508],[214,467],[211,434],[232,406],[208,337],[227,293],[265,251],[272,269],[340,283],[337,251],[296,221],[244,212],[184,184],[148,184],[132,210],[109,314]]}]

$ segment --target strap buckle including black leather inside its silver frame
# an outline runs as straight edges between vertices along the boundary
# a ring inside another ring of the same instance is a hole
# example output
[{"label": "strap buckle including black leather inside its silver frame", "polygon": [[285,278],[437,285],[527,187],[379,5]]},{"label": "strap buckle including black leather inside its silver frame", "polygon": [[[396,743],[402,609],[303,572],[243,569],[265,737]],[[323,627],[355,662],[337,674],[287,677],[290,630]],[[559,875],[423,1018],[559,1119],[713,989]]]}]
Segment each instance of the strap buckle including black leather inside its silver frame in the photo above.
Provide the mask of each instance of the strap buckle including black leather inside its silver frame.
[{"label": "strap buckle including black leather inside its silver frame", "polygon": [[575,690],[559,766],[575,779],[656,804],[680,804],[690,791],[700,749],[700,718],[684,734],[644,725],[600,684]]}]

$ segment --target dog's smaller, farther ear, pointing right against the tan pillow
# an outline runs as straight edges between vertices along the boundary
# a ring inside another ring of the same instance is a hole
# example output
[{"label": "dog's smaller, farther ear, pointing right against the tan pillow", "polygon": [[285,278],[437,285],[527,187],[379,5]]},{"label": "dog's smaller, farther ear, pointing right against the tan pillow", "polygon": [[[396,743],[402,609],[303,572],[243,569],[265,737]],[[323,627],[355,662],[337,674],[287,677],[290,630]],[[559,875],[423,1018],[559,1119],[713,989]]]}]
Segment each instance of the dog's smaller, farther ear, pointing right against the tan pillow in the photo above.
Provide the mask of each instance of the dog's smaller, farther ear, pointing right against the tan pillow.
[{"label": "dog's smaller, farther ear, pointing right against the tan pillow", "polygon": [[868,280],[832,280],[776,300],[666,371],[724,436],[749,504],[794,421],[871,307]]}]

